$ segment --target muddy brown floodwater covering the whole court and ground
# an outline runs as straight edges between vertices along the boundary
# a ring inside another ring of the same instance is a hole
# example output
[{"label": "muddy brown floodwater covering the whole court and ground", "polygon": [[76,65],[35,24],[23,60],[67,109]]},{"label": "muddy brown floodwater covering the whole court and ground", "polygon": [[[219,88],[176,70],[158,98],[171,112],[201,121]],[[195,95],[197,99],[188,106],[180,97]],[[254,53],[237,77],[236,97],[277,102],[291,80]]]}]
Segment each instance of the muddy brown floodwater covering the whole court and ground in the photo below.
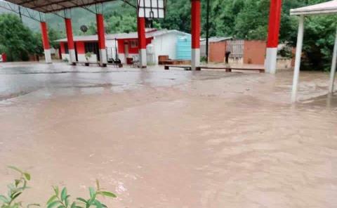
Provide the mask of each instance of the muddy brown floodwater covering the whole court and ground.
[{"label": "muddy brown floodwater covering the whole court and ground", "polygon": [[0,193],[32,174],[108,207],[337,207],[337,97],[329,74],[0,66]]}]

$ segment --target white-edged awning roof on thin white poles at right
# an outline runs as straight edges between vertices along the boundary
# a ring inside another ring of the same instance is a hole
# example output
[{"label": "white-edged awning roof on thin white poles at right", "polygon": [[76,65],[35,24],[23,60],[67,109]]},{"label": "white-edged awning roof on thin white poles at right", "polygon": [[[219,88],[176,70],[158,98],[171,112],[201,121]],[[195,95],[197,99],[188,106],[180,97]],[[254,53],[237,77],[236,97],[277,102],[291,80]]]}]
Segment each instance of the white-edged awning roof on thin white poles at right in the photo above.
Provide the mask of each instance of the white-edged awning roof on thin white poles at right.
[{"label": "white-edged awning roof on thin white poles at right", "polygon": [[290,15],[319,15],[333,13],[337,13],[337,0],[290,10]]}]

